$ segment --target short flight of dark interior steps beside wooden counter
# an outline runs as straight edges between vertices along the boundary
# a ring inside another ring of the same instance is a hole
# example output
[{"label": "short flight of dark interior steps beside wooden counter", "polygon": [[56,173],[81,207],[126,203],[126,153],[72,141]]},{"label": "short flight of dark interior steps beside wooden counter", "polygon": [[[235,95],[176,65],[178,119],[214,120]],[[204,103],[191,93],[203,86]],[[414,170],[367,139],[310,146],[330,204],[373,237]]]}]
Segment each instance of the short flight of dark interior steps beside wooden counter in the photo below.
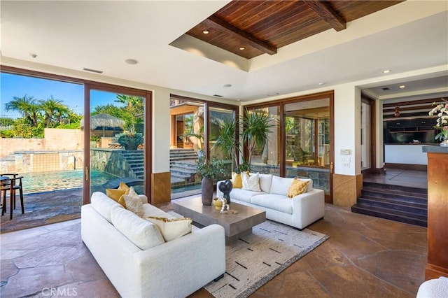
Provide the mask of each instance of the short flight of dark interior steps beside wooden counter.
[{"label": "short flight of dark interior steps beside wooden counter", "polygon": [[428,190],[365,182],[351,212],[427,227]]}]

